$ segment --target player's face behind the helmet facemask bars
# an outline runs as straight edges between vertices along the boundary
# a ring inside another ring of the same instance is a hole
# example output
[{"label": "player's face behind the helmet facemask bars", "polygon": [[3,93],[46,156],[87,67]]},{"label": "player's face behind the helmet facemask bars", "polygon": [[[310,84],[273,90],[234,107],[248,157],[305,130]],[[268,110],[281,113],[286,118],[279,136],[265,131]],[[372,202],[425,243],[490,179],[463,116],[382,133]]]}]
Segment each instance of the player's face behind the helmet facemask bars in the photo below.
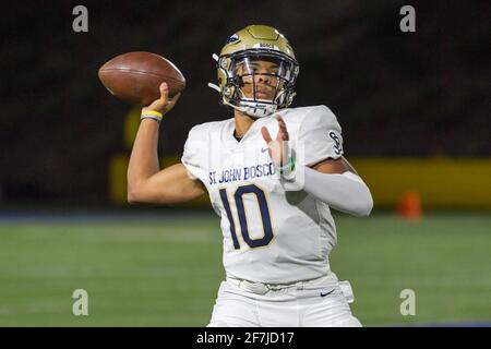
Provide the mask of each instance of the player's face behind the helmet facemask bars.
[{"label": "player's face behind the helmet facemask bars", "polygon": [[278,82],[278,69],[274,61],[244,59],[239,62],[236,74],[242,76],[240,89],[244,97],[273,100],[277,88],[283,85],[283,82]]}]

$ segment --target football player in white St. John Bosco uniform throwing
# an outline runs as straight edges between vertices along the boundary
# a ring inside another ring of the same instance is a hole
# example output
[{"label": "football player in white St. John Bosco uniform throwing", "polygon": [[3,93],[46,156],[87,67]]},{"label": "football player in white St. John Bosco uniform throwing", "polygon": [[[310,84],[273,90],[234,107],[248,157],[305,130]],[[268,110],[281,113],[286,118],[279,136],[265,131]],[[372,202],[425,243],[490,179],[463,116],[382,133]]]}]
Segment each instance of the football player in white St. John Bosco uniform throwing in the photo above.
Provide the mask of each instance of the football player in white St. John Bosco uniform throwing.
[{"label": "football player in white St. John Bosco uniform throwing", "polygon": [[233,34],[217,63],[233,118],[189,132],[181,164],[159,170],[158,128],[179,96],[142,109],[128,169],[130,203],[169,204],[207,193],[220,217],[226,279],[208,326],[360,326],[348,281],[331,270],[331,209],[368,216],[372,196],[344,158],[326,106],[289,108],[299,64],[273,27]]}]

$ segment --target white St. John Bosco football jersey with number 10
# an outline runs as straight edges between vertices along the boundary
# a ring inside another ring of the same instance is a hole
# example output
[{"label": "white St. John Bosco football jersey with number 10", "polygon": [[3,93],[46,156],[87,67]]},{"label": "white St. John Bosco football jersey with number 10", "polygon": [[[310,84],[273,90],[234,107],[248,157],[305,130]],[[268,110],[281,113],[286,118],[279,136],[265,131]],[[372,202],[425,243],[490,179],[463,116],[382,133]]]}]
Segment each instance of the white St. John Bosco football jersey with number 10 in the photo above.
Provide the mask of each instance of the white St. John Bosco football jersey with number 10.
[{"label": "white St. John Bosco football jersey with number 10", "polygon": [[[278,113],[287,125],[297,170],[343,155],[342,130],[327,107]],[[282,185],[262,127],[276,137],[274,117],[254,121],[240,142],[233,137],[233,118],[197,124],[189,132],[181,158],[190,177],[206,186],[221,218],[226,274],[267,284],[324,276],[336,243],[330,207],[302,190]]]}]

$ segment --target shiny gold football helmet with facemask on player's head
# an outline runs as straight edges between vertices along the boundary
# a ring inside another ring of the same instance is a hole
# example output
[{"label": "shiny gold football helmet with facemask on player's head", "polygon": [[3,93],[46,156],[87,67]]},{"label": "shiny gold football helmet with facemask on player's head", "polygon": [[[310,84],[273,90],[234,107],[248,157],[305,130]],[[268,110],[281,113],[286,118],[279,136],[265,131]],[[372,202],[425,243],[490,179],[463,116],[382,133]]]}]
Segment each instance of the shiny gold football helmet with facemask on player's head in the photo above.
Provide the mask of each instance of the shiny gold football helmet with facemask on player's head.
[{"label": "shiny gold football helmet with facemask on player's head", "polygon": [[299,64],[283,34],[271,26],[249,25],[230,36],[217,62],[218,91],[224,105],[253,118],[287,108],[295,97]]}]

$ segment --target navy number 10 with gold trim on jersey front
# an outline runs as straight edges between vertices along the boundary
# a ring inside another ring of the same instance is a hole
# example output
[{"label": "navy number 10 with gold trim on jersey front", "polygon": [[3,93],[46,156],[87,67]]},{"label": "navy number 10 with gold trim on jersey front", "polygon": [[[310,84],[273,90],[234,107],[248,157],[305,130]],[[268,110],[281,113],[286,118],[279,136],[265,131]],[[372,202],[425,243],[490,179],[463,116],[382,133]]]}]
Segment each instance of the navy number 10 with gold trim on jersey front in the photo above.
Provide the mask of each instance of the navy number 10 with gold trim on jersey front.
[{"label": "navy number 10 with gold trim on jersey front", "polygon": [[[233,248],[236,248],[236,250],[239,250],[240,244],[239,240],[237,239],[236,224],[233,221],[230,205],[228,203],[227,191],[226,189],[220,189],[219,192],[225,210],[227,212],[228,220],[230,221],[230,233],[233,240]],[[264,230],[264,236],[260,239],[251,239],[251,237],[249,236],[248,220],[246,217],[246,208],[243,205],[243,197],[242,197],[243,194],[249,193],[255,195],[255,197],[258,198],[258,204],[260,206],[261,220],[263,222],[263,230]],[[233,198],[236,202],[237,214],[239,216],[240,230],[242,232],[243,241],[246,241],[246,243],[252,249],[267,245],[271,242],[271,240],[273,240],[273,229],[271,226],[270,208],[267,207],[267,201],[264,191],[254,184],[242,185],[236,190]]]}]

